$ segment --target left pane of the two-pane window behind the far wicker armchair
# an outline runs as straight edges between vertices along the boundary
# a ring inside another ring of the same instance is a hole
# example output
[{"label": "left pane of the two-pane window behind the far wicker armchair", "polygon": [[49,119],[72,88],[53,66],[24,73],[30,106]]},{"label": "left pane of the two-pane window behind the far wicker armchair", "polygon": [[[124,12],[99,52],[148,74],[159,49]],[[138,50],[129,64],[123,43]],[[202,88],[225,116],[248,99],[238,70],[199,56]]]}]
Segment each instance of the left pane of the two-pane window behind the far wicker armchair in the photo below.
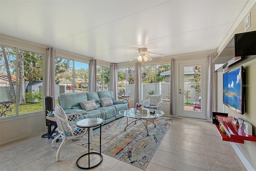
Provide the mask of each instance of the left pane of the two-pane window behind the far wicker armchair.
[{"label": "left pane of the two-pane window behind the far wicker armchair", "polygon": [[156,94],[156,66],[142,66],[142,101]]}]

